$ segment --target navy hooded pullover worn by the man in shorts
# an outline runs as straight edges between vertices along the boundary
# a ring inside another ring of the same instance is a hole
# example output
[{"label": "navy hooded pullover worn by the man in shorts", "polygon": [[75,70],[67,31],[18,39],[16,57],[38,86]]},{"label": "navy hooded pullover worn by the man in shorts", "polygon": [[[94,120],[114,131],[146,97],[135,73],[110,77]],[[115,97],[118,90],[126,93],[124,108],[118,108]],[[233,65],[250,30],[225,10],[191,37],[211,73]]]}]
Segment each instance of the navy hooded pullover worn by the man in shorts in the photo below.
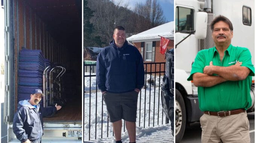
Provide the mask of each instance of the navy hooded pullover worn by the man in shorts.
[{"label": "navy hooded pullover worn by the man in shorts", "polygon": [[101,91],[124,93],[141,89],[145,82],[143,59],[139,50],[125,41],[121,48],[105,47],[97,57],[96,78]]}]

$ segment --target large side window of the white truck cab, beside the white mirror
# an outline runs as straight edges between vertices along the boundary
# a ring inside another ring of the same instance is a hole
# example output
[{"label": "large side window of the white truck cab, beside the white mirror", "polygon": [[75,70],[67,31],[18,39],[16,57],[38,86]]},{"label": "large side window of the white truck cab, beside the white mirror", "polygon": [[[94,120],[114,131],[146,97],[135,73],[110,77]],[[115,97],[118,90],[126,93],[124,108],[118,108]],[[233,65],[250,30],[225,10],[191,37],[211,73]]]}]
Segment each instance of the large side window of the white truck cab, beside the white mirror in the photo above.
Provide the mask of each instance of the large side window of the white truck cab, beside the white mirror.
[{"label": "large side window of the white truck cab, beside the white mirror", "polygon": [[193,9],[176,7],[175,31],[194,30],[194,11]]}]

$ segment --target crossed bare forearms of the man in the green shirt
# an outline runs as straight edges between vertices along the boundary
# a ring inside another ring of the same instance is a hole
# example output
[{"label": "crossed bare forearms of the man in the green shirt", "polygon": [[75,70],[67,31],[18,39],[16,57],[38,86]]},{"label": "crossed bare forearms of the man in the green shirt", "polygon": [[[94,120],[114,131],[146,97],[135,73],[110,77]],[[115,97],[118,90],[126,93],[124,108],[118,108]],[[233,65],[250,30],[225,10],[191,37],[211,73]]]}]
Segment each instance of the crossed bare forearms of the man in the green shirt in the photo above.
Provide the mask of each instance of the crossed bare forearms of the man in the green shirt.
[{"label": "crossed bare forearms of the man in the green shirt", "polygon": [[[241,67],[242,62],[237,62],[229,67],[213,66],[212,61],[209,66],[205,66],[204,73],[194,73],[193,83],[195,86],[211,87],[227,80],[244,80],[250,70],[247,67]],[[212,74],[219,76],[212,76]]]}]

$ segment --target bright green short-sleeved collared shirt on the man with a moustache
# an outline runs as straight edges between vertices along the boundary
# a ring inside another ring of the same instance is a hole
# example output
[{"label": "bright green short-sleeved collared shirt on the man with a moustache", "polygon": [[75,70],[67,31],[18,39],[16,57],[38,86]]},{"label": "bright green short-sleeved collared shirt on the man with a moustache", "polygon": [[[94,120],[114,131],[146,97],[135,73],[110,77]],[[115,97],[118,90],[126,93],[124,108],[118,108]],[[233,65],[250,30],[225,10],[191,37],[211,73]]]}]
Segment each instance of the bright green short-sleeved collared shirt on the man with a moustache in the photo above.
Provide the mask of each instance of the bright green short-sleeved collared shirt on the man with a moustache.
[{"label": "bright green short-sleeved collared shirt on the man with a moustache", "polygon": [[[194,73],[203,73],[205,66],[213,61],[214,66],[227,67],[242,62],[241,66],[251,70],[245,80],[226,81],[212,87],[198,87],[199,108],[202,111],[229,111],[245,109],[251,106],[251,76],[254,76],[254,67],[251,63],[251,54],[247,48],[235,47],[230,44],[220,61],[219,53],[215,47],[198,52],[192,65],[190,76],[187,80],[193,80]],[[217,76],[214,74],[214,76]]]}]

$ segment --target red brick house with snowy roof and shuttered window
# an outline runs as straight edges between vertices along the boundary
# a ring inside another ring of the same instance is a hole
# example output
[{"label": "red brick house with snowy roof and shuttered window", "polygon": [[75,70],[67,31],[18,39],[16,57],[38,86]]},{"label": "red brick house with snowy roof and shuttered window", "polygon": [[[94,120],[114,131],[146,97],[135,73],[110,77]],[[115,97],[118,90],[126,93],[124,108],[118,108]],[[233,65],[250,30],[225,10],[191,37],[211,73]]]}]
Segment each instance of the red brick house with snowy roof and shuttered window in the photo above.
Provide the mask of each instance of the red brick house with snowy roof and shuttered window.
[{"label": "red brick house with snowy roof and shuttered window", "polygon": [[[142,54],[144,63],[158,63],[165,62],[165,55],[160,53],[160,36],[170,39],[170,42],[167,46],[168,49],[174,48],[173,21],[128,37],[126,40],[128,43],[131,43],[139,49],[140,53]],[[155,69],[154,64],[152,65],[152,69]],[[159,69],[160,66],[157,66],[156,70],[159,71]],[[150,70],[150,67],[147,67],[147,71],[148,70]],[[163,65],[161,66],[161,70],[164,70]]]}]

